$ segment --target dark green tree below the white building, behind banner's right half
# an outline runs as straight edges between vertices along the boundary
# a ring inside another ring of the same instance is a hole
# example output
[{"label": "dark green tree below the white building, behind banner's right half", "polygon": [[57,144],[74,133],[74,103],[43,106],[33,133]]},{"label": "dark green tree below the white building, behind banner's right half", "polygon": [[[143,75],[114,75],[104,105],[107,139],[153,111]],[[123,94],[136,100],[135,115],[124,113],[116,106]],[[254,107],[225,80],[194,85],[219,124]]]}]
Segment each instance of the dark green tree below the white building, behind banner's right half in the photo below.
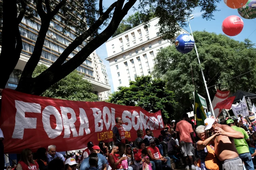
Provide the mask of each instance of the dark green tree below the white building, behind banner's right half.
[{"label": "dark green tree below the white building, behind banner's right half", "polygon": [[109,102],[126,106],[140,106],[155,113],[161,110],[166,118],[173,118],[173,106],[176,104],[174,93],[166,88],[166,82],[152,79],[151,76],[137,77],[130,81],[129,87],[118,87]]}]

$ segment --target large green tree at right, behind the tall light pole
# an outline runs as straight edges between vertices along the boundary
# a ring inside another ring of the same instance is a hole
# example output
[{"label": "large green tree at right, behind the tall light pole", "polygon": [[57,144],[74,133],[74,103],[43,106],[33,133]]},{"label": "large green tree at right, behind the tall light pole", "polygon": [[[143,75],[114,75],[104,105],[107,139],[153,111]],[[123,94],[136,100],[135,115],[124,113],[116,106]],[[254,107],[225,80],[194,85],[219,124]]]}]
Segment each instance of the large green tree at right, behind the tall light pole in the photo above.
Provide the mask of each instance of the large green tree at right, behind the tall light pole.
[{"label": "large green tree at right, behind the tall light pole", "polygon": [[[206,31],[196,31],[193,35],[212,100],[216,89],[256,92],[256,49],[250,40],[239,42]],[[243,73],[246,74],[239,76]],[[175,100],[179,102],[176,112],[192,110],[194,88],[207,98],[195,50],[182,54],[175,46],[162,49],[156,57],[154,76],[167,81],[168,89],[174,91]],[[229,80],[231,78],[234,79]]]}]

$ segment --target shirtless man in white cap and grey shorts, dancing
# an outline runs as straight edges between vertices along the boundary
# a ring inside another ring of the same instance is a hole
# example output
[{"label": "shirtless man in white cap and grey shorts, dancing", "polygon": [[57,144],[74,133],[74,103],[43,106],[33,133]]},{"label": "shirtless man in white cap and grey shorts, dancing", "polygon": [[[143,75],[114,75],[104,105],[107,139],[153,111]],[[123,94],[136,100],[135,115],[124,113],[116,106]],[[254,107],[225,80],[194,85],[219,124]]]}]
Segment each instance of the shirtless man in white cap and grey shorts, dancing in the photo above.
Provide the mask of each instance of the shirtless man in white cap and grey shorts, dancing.
[{"label": "shirtless man in white cap and grey shorts, dancing", "polygon": [[234,139],[243,139],[241,132],[233,130],[225,124],[219,124],[212,118],[204,120],[205,130],[219,133],[214,139],[217,158],[222,162],[223,170],[243,170],[243,163],[234,145]]}]

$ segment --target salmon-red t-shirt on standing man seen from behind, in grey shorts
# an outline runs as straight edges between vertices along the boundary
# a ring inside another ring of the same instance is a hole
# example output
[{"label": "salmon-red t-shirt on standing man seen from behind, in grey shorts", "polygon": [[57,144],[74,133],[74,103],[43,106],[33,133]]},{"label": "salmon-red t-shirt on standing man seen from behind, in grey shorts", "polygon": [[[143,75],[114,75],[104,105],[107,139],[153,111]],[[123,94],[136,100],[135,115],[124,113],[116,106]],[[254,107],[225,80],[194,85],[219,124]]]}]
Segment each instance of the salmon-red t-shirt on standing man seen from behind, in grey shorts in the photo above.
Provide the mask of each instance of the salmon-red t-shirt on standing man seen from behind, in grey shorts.
[{"label": "salmon-red t-shirt on standing man seen from behind, in grey shorts", "polygon": [[194,131],[192,129],[192,125],[188,123],[186,120],[182,120],[177,123],[176,131],[180,133],[180,141],[192,142],[190,133]]}]

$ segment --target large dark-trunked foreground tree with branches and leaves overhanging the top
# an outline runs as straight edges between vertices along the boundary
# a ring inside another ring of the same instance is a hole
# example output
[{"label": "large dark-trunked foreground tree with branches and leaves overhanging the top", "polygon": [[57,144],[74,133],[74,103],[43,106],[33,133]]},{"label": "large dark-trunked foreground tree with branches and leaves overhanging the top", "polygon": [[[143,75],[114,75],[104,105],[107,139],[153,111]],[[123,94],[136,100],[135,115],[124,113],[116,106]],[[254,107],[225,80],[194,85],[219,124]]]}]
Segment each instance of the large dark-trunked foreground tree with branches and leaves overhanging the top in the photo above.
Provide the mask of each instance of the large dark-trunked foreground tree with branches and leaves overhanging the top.
[{"label": "large dark-trunked foreground tree with branches and leaves overhanging the top", "polygon": [[[2,48],[0,54],[0,88],[4,88],[10,74],[18,63],[22,51],[22,37],[19,23],[22,18],[41,19],[41,27],[34,44],[34,50],[28,60],[17,91],[28,94],[41,95],[46,89],[66,77],[79,67],[86,58],[107,41],[117,30],[127,12],[136,6],[141,23],[147,23],[152,17],[151,8],[155,8],[155,16],[159,18],[160,34],[165,39],[171,39],[186,22],[195,7],[201,7],[202,17],[211,19],[220,0],[113,0],[110,6],[103,6],[106,0],[2,0],[0,1],[0,26],[2,26]],[[150,8],[151,5],[151,8]],[[58,19],[57,19],[58,18]],[[138,24],[137,16],[129,20],[132,26]],[[77,37],[70,43],[57,60],[39,74],[32,77],[35,67],[40,61],[44,40],[52,20],[60,20],[65,30],[74,29]],[[99,33],[99,30],[106,26]],[[1,28],[0,28],[1,29]],[[82,44],[86,41],[86,44]],[[70,53],[82,45],[82,50],[72,58]],[[10,52],[12,54],[10,55]]]}]

